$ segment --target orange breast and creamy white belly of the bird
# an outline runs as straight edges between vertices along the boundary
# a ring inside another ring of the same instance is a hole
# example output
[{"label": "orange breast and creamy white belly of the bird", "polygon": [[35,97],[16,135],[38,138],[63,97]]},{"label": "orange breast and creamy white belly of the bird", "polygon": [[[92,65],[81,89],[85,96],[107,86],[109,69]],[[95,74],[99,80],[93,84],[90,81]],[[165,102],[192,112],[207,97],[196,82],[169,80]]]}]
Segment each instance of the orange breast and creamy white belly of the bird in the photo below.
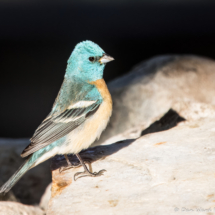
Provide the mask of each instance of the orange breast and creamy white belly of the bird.
[{"label": "orange breast and creamy white belly of the bird", "polygon": [[83,149],[87,149],[97,138],[100,137],[102,131],[106,128],[107,123],[112,114],[112,99],[103,79],[97,80],[92,84],[97,86],[103,102],[99,109],[87,120],[59,140],[62,144],[55,146],[50,151],[42,155],[35,163],[39,163],[55,156],[56,154],[77,154]]}]

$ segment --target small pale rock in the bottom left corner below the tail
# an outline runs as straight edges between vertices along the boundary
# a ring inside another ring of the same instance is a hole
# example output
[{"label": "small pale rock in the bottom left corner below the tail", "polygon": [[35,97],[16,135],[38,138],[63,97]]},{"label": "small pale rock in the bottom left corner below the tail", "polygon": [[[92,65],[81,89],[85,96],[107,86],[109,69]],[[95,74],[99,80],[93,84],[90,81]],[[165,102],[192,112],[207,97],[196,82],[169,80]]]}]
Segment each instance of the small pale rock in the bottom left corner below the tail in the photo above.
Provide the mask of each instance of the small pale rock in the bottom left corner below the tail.
[{"label": "small pale rock in the bottom left corner below the tail", "polygon": [[0,202],[0,215],[45,215],[45,212],[17,202]]}]

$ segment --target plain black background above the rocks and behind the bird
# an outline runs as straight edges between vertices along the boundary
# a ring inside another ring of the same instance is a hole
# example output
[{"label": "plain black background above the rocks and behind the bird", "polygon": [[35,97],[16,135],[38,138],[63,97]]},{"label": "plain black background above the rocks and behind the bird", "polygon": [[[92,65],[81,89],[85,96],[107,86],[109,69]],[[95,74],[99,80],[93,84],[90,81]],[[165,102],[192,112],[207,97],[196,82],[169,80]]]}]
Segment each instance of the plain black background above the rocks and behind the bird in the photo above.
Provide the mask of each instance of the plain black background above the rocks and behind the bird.
[{"label": "plain black background above the rocks and behind the bird", "polygon": [[30,137],[50,112],[76,43],[115,58],[110,81],[161,54],[215,58],[213,1],[0,1],[0,137]]}]

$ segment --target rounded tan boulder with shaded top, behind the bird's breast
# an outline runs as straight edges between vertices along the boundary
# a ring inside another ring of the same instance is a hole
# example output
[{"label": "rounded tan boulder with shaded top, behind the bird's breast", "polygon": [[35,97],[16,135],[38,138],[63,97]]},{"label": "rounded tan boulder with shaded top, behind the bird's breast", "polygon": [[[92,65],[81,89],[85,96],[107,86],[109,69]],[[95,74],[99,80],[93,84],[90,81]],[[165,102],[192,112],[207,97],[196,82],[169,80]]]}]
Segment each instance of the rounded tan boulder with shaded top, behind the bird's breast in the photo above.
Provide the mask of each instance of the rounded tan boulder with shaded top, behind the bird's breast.
[{"label": "rounded tan boulder with shaded top, behind the bird's breast", "polygon": [[141,130],[174,109],[176,103],[190,101],[215,106],[214,80],[215,62],[210,59],[175,55],[140,63],[127,75],[108,84],[113,115],[93,146],[117,134],[121,136],[128,129],[138,137]]}]

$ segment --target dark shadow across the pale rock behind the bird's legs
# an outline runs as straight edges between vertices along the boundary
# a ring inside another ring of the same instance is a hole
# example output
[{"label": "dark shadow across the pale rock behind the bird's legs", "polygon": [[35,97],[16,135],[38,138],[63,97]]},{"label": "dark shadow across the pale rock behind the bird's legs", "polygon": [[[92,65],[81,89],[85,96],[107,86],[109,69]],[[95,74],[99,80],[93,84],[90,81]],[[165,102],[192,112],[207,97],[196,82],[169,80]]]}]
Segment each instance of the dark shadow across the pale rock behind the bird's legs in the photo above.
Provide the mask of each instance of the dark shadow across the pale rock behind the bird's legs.
[{"label": "dark shadow across the pale rock behind the bird's legs", "polygon": [[[148,128],[144,129],[141,132],[141,136],[150,134],[150,133],[168,130],[170,128],[175,127],[179,122],[182,122],[182,121],[185,121],[185,119],[181,117],[176,111],[170,109],[163,117],[161,117],[160,120],[155,121]],[[79,154],[83,160],[88,160],[92,163],[100,159],[105,159],[107,156],[112,155],[118,152],[119,150],[129,146],[135,140],[136,139],[127,139],[110,145],[96,146],[94,148],[83,150]],[[80,164],[76,155],[70,154],[68,155],[68,157],[74,167]],[[63,166],[64,167],[67,166],[67,161],[63,155],[57,155],[54,158],[52,158],[52,162],[51,162],[52,171],[59,169],[60,167],[63,167]]]}]

